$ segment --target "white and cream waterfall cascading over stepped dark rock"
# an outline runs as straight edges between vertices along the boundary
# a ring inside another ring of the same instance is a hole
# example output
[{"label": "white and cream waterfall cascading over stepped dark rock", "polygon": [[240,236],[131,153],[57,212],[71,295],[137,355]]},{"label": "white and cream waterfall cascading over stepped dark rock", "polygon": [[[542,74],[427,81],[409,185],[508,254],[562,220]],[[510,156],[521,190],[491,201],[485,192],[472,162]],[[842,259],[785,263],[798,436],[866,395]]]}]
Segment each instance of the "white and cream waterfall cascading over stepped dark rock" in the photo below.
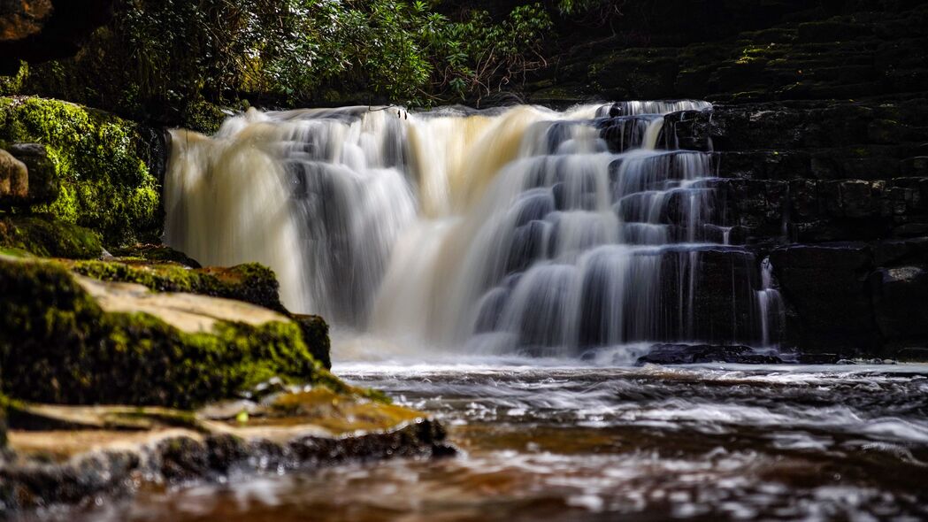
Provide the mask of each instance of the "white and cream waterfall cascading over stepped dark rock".
[{"label": "white and cream waterfall cascading over stepped dark rock", "polygon": [[295,311],[410,345],[770,345],[769,272],[728,245],[711,153],[664,125],[706,110],[252,110],[174,133],[165,242],[263,262]]}]

